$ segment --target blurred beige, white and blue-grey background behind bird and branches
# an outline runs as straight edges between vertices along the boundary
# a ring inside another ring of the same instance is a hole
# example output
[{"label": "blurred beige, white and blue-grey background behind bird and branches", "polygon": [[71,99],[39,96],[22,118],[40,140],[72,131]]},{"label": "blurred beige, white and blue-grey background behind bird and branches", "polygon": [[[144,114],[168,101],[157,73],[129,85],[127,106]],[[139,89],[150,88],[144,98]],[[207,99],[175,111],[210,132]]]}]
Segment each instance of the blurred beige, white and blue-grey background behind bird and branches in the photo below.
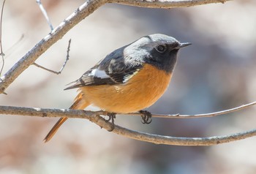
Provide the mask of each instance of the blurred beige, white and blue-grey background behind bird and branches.
[{"label": "blurred beige, white and blue-grey background behind bird and branches", "polygon": [[[2,2],[2,1],[1,1]],[[84,1],[42,0],[56,27]],[[0,105],[68,108],[76,90],[63,91],[108,53],[144,35],[162,33],[192,42],[179,53],[173,80],[152,113],[196,114],[256,100],[256,1],[238,0],[170,10],[106,4],[26,69],[1,95]],[[36,1],[6,1],[2,23],[3,73],[37,44],[50,28]],[[98,110],[88,107],[88,110]],[[255,127],[256,107],[214,118],[118,116],[116,124],[176,137],[229,135]],[[58,118],[0,117],[0,173],[256,173],[255,137],[208,147],[154,145],[115,135],[85,119],[69,119],[43,143]]]}]

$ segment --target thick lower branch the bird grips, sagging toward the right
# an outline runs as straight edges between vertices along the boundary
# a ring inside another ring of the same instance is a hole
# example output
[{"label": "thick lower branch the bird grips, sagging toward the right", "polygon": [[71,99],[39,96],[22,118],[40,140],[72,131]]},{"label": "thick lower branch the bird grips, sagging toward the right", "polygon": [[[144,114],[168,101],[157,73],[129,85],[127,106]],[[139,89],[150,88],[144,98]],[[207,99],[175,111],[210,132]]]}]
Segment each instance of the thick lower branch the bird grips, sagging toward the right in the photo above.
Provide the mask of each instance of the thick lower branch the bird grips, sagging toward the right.
[{"label": "thick lower branch the bird grips, sagging toward the right", "polygon": [[[60,110],[60,109],[42,109],[31,107],[10,107],[0,106],[0,114],[18,115],[18,116],[39,116],[39,117],[68,117],[68,118],[86,118],[94,122],[98,126],[111,130],[112,124],[105,121],[99,115],[105,115],[106,112],[86,111],[86,110]],[[256,135],[256,129],[246,132],[240,132],[232,135],[215,136],[215,137],[170,137],[163,135],[153,135],[145,132],[137,132],[124,127],[115,126],[113,133],[123,135],[135,140],[146,141],[149,143],[165,144],[165,145],[217,145],[220,143],[229,143],[236,140],[242,140],[247,137]]]}]

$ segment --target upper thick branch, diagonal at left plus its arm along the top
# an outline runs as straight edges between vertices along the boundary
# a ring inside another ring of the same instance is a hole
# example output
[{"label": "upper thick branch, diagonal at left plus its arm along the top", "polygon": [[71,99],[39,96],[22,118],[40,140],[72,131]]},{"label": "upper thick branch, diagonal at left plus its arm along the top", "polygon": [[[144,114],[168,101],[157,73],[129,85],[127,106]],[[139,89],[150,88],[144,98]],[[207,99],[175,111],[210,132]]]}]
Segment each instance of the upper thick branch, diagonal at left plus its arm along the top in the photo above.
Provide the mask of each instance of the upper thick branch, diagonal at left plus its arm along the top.
[{"label": "upper thick branch, diagonal at left plus its arm along the top", "polygon": [[0,78],[0,94],[34,61],[45,53],[54,43],[61,39],[64,34],[77,25],[81,20],[86,18],[92,12],[106,3],[126,4],[137,7],[151,7],[151,8],[174,8],[174,7],[191,7],[201,4],[224,3],[230,0],[166,0],[166,1],[151,1],[151,0],[87,0],[82,4],[78,10],[66,18],[56,29],[50,32],[37,45],[34,46],[25,56]]}]

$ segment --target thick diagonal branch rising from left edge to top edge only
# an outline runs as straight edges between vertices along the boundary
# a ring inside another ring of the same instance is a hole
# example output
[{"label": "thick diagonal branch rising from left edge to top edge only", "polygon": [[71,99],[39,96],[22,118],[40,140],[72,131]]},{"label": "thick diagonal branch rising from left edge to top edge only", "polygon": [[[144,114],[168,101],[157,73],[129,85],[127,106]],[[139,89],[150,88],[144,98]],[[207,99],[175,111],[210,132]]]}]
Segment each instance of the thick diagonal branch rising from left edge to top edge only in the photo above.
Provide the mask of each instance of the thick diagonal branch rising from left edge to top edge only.
[{"label": "thick diagonal branch rising from left edge to top edge only", "polygon": [[81,5],[72,15],[66,18],[56,29],[50,32],[45,38],[43,38],[37,45],[34,46],[28,53],[26,53],[20,60],[5,74],[1,77],[0,81],[0,94],[4,93],[5,89],[31,64],[42,53],[45,53],[55,42],[61,39],[64,34],[78,24],[83,18],[90,15],[92,12],[97,10],[100,6],[107,3],[107,0],[88,0]]}]

